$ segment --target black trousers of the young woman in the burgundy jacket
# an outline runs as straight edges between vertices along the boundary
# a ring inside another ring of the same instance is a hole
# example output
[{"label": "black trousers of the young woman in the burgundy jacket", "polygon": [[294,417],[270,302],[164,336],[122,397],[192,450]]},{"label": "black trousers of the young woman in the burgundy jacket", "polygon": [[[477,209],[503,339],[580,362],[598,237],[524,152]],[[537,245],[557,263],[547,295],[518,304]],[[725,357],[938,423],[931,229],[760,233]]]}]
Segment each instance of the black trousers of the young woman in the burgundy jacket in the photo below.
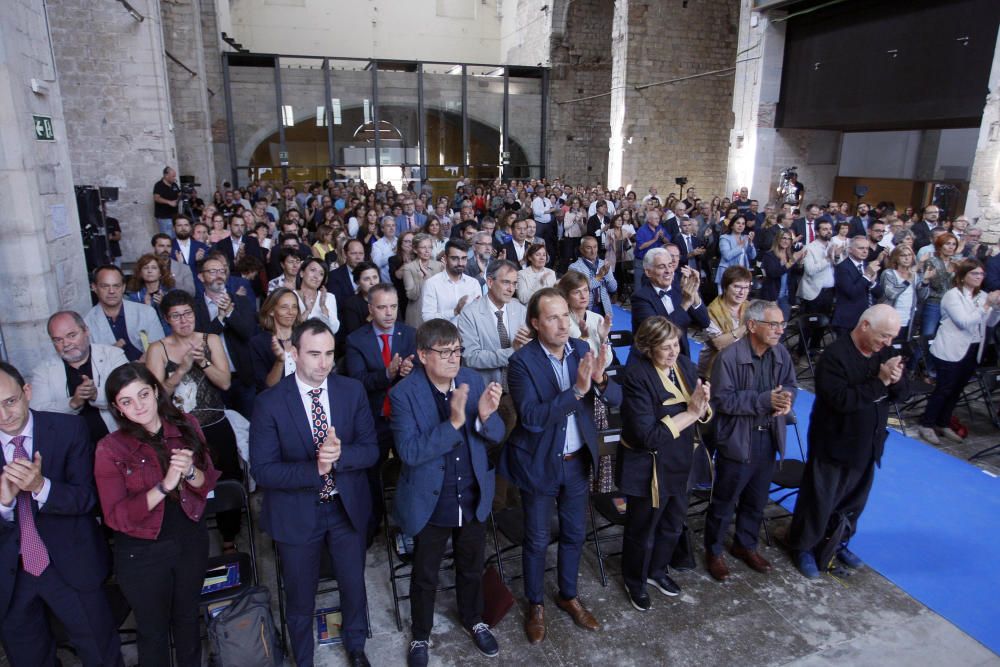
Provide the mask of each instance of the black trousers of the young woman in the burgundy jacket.
[{"label": "black trousers of the young woman in the burgundy jacket", "polygon": [[115,577],[135,612],[142,667],[170,664],[168,630],[178,667],[201,665],[198,602],[207,566],[204,523],[183,539],[116,542]]}]

